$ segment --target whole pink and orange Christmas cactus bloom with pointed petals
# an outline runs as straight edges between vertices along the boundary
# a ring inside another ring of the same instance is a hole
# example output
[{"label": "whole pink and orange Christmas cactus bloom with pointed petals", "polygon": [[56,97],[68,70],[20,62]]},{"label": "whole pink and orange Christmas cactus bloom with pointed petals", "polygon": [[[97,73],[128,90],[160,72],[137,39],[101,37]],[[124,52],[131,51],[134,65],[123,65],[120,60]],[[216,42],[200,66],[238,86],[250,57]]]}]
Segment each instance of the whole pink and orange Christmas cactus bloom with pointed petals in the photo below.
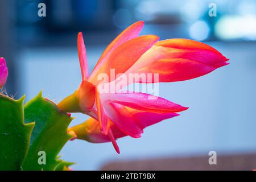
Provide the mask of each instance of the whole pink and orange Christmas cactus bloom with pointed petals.
[{"label": "whole pink and orange Christmas cactus bloom with pointed petals", "polygon": [[[84,40],[79,33],[77,46],[82,82],[58,105],[65,112],[92,117],[69,129],[76,138],[94,143],[111,141],[119,153],[117,138],[126,135],[139,138],[145,127],[188,109],[147,93],[123,92],[125,86],[135,82],[189,80],[228,64],[225,56],[204,43],[188,39],[159,41],[155,35],[139,36],[143,25],[139,21],[118,35],[102,53],[90,75]],[[139,78],[130,79],[130,75],[139,75]]]}]

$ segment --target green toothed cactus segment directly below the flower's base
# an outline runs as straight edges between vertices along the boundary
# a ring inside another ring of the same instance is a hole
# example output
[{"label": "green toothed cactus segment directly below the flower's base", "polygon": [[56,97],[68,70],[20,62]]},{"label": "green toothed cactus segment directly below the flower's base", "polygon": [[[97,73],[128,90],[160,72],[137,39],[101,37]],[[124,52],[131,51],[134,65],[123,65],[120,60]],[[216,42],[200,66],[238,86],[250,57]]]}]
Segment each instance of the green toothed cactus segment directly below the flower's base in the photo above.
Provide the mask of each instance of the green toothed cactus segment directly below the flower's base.
[{"label": "green toothed cactus segment directly below the flower's base", "polygon": [[25,105],[25,122],[35,122],[30,149],[23,170],[55,170],[62,162],[57,159],[61,148],[73,136],[67,133],[72,118],[39,93]]}]

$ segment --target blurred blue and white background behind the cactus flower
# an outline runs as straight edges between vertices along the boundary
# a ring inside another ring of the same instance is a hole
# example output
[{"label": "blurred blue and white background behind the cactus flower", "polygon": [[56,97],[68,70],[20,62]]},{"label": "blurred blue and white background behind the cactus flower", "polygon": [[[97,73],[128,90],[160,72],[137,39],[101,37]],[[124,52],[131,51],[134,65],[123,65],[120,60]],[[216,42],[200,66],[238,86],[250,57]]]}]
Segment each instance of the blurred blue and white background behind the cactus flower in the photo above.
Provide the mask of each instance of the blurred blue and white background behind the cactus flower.
[{"label": "blurred blue and white background behind the cactus flower", "polygon": [[[46,5],[45,17],[38,16],[39,3]],[[7,93],[26,94],[28,101],[43,90],[44,97],[59,102],[81,81],[77,33],[84,34],[92,71],[105,47],[137,20],[145,22],[141,35],[199,40],[230,64],[194,80],[160,84],[161,97],[189,109],[145,129],[142,138],[118,139],[121,154],[111,143],[74,140],[60,152],[62,158],[77,163],[73,169],[94,170],[123,160],[255,153],[254,0],[2,0],[0,56],[9,67]],[[71,125],[88,118],[73,116]]]}]

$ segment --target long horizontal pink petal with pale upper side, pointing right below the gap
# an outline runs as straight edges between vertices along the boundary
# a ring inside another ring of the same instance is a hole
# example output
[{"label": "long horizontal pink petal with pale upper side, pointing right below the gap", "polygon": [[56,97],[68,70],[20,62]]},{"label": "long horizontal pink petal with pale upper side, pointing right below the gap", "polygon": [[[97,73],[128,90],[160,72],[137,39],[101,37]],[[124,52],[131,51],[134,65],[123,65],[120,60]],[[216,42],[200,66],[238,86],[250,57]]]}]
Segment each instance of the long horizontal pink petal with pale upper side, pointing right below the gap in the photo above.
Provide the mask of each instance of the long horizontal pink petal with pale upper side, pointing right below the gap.
[{"label": "long horizontal pink petal with pale upper side, pointing right below the gap", "polygon": [[101,94],[105,102],[113,102],[137,110],[158,111],[159,113],[176,113],[188,109],[164,98],[146,93],[129,92],[115,94]]}]

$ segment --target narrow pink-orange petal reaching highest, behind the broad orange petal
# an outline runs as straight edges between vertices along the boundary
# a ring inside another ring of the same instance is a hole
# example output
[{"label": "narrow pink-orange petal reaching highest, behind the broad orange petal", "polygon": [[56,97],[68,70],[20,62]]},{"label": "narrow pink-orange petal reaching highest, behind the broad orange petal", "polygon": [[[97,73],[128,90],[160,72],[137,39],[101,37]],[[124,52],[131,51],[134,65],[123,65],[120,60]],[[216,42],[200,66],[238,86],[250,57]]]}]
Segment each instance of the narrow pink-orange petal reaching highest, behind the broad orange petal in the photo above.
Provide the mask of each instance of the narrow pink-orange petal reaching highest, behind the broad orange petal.
[{"label": "narrow pink-orange petal reaching highest, behind the broad orange petal", "polygon": [[98,71],[102,62],[104,62],[108,58],[110,53],[112,53],[115,48],[117,48],[121,44],[127,42],[128,40],[136,38],[139,35],[139,33],[141,32],[143,26],[144,26],[144,22],[139,21],[139,22],[132,24],[131,26],[126,28],[123,32],[121,32],[121,34],[119,34],[117,36],[117,38],[115,38],[112,41],[112,43],[110,43],[109,46],[106,47],[105,51],[102,53],[100,59],[98,60],[96,66],[94,67],[92,75],[94,75],[94,73],[96,73]]}]

